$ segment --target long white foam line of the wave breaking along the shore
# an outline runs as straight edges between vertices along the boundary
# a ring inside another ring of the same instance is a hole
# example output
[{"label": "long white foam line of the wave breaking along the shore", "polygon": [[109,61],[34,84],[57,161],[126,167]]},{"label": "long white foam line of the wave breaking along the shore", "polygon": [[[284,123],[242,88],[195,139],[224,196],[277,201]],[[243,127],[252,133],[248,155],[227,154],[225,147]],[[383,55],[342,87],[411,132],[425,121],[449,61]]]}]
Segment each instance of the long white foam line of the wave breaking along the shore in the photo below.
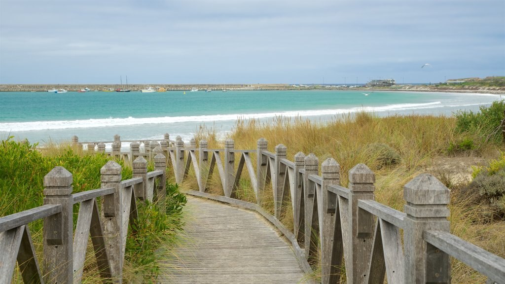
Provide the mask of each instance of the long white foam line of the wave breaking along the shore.
[{"label": "long white foam line of the wave breaking along the shore", "polygon": [[[217,114],[217,115],[175,116],[175,117],[166,116],[166,117],[149,117],[149,118],[128,117],[128,118],[107,118],[107,119],[87,119],[87,120],[7,122],[7,123],[0,123],[0,131],[16,132],[16,131],[32,131],[32,130],[47,130],[47,129],[91,128],[91,127],[94,128],[94,127],[106,127],[106,126],[126,126],[126,125],[161,124],[161,123],[178,123],[178,122],[212,122],[212,121],[230,121],[230,120],[236,120],[237,118],[261,119],[276,116],[306,117],[306,116],[346,114],[358,111],[384,112],[384,111],[401,111],[401,110],[442,108],[442,107],[449,107],[449,106],[443,105],[441,102],[432,102],[424,104],[394,104],[379,107],[302,110],[302,111],[269,112],[269,113],[254,113],[254,114]],[[457,107],[457,106],[450,106],[450,107]]]}]

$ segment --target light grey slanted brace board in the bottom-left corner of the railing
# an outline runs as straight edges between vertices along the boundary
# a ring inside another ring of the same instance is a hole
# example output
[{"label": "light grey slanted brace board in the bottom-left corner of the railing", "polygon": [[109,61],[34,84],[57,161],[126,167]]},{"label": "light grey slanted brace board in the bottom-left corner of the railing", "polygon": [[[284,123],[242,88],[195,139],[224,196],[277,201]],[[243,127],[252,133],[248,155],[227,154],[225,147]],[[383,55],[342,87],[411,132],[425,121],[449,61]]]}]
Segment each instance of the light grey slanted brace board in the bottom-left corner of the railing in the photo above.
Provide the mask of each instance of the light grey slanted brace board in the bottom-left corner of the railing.
[{"label": "light grey slanted brace board in the bottom-left corner of the railing", "polygon": [[0,283],[10,284],[25,225],[0,232]]}]

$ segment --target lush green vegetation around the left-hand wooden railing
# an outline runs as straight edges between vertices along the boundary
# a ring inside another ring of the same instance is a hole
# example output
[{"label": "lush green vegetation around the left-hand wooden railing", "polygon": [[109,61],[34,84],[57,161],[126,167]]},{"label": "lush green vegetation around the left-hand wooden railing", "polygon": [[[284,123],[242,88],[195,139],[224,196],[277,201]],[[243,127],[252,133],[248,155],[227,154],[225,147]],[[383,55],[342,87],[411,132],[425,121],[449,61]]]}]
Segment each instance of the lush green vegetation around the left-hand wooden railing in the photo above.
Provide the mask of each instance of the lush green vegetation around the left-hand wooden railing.
[{"label": "lush green vegetation around the left-hand wooden railing", "polygon": [[[92,154],[70,145],[45,145],[37,148],[13,138],[0,144],[0,216],[6,216],[42,205],[43,177],[55,166],[63,166],[73,174],[73,193],[100,188],[100,168],[113,158],[105,154]],[[132,169],[122,160],[122,178],[132,177]],[[153,165],[149,165],[153,168]],[[131,233],[125,249],[125,283],[157,283],[160,273],[167,271],[160,260],[173,255],[180,241],[182,207],[186,198],[178,186],[167,184],[167,211],[161,212],[156,203],[138,203],[137,233]],[[98,201],[98,204],[100,202]],[[74,206],[74,227],[79,205]],[[42,261],[42,221],[29,224],[39,262]],[[160,252],[164,252],[161,254]],[[175,257],[175,256],[174,256]],[[92,243],[88,242],[83,283],[102,283],[95,264]],[[13,283],[22,283],[18,268]]]}]

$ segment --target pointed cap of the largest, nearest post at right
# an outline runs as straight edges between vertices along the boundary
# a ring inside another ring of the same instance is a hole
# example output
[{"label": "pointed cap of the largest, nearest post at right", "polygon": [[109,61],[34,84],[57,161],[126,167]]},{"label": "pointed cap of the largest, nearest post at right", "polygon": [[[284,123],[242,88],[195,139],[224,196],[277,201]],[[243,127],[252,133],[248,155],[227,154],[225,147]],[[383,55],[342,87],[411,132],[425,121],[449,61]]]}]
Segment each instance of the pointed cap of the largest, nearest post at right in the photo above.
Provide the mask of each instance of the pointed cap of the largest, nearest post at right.
[{"label": "pointed cap of the largest, nearest post at right", "polygon": [[449,204],[450,191],[436,177],[423,173],[403,186],[403,198],[411,204]]}]

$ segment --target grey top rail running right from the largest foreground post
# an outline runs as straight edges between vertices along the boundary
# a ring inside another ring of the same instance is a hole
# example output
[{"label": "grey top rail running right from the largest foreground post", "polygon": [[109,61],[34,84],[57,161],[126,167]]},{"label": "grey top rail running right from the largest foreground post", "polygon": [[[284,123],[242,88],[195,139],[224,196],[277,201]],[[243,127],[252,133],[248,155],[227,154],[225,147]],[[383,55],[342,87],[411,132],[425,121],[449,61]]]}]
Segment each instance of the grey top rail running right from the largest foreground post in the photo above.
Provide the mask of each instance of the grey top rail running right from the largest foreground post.
[{"label": "grey top rail running right from the largest foreground post", "polygon": [[425,230],[423,240],[498,283],[505,283],[505,259],[445,231]]}]

